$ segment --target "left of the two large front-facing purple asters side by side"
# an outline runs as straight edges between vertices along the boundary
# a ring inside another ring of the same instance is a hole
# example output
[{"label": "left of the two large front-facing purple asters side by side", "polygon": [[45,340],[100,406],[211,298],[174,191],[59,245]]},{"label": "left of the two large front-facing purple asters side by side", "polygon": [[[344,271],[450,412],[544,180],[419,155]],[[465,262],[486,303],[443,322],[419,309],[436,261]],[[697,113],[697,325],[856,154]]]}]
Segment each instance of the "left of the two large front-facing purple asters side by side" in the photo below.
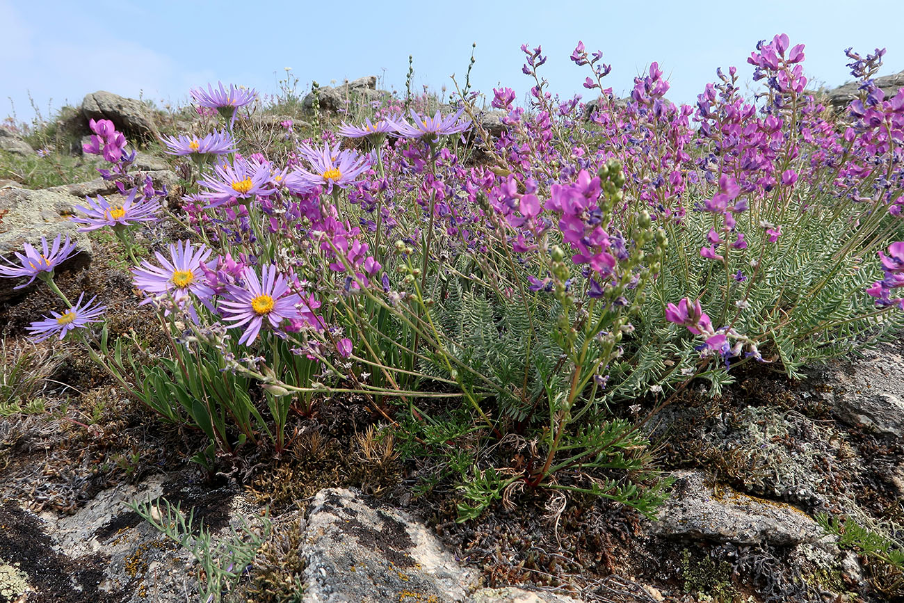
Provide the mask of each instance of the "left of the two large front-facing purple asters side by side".
[{"label": "left of the two large front-facing purple asters side by side", "polygon": [[204,262],[211,256],[212,250],[203,244],[195,248],[187,240],[170,243],[169,258],[157,251],[155,256],[159,266],[143,261],[141,266],[132,269],[134,283],[148,298],[142,304],[153,301],[155,297],[172,295],[179,306],[184,306],[189,293],[202,301],[213,297],[213,289],[208,286]]}]

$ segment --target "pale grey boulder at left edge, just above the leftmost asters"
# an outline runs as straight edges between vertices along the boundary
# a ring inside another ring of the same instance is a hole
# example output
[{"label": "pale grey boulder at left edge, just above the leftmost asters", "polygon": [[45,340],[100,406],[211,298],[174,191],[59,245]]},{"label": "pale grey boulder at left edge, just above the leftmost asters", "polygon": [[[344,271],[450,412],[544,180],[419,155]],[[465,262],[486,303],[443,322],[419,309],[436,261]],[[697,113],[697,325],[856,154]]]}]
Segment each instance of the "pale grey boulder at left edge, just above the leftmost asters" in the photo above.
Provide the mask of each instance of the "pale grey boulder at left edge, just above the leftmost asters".
[{"label": "pale grey boulder at left edge, just above the leftmost asters", "polygon": [[[24,243],[38,246],[44,237],[51,242],[57,235],[68,235],[76,241],[79,252],[61,264],[61,269],[75,269],[88,265],[91,243],[69,220],[80,198],[60,191],[31,191],[23,188],[0,189],[0,257],[14,260],[14,251],[21,251]],[[15,297],[22,289],[13,287],[25,282],[22,278],[0,278],[0,302]]]}]

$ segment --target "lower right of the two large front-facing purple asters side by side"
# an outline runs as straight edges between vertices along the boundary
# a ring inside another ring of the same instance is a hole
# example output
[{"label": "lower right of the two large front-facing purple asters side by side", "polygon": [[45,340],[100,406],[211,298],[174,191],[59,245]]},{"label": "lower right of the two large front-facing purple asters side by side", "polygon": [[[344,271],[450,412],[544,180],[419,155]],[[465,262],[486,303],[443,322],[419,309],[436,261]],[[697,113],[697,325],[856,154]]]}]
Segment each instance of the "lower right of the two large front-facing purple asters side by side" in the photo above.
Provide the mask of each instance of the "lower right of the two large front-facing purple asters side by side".
[{"label": "lower right of the two large front-facing purple asters side by side", "polygon": [[292,293],[288,279],[278,274],[276,266],[265,266],[262,279],[250,266],[242,271],[242,276],[245,286],[227,285],[226,297],[219,304],[223,318],[232,323],[227,328],[247,325],[240,344],[257,339],[265,318],[274,329],[284,321],[303,318],[296,308],[303,303],[301,297]]}]

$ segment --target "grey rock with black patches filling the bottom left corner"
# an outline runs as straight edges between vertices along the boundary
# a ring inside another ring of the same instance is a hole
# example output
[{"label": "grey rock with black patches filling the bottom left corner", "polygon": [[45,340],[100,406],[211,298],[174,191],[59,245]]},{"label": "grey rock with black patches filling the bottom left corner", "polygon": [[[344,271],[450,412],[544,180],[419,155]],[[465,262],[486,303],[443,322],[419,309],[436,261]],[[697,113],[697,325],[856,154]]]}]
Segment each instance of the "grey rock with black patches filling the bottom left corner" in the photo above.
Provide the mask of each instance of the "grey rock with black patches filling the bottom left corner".
[{"label": "grey rock with black patches filling the bottom left corner", "polygon": [[183,501],[183,512],[193,509],[195,527],[202,522],[214,540],[225,537],[242,518],[257,515],[229,487],[209,489],[165,476],[105,490],[71,515],[35,515],[6,502],[0,504],[0,592],[7,579],[20,589],[26,584],[25,592],[38,601],[198,600],[192,554],[126,506],[161,495]]}]

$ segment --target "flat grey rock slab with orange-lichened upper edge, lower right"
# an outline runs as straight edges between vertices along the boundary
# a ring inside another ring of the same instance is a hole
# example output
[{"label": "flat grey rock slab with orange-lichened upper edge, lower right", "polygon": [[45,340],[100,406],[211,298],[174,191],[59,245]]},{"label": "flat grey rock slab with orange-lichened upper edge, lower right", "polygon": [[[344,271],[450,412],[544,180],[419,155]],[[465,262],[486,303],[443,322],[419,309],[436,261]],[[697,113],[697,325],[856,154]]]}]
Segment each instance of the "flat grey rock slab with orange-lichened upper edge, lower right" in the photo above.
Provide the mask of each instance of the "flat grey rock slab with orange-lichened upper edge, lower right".
[{"label": "flat grey rock slab with orange-lichened upper edge, lower right", "polygon": [[727,486],[718,490],[700,471],[676,471],[673,494],[651,523],[667,537],[704,538],[715,542],[792,546],[816,542],[824,533],[796,507],[744,495]]}]

